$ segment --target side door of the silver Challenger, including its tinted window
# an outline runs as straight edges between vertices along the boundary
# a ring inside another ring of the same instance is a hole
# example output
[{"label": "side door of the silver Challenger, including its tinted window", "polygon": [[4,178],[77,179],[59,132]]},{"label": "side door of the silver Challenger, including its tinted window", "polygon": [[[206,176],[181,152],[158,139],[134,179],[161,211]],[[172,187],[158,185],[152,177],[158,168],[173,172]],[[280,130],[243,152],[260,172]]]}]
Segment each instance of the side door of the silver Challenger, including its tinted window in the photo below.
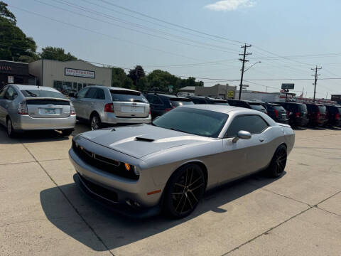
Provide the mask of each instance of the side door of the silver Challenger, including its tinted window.
[{"label": "side door of the silver Challenger, including its tinted window", "polygon": [[[222,181],[226,182],[251,174],[264,168],[268,163],[266,136],[264,132],[269,124],[258,114],[241,114],[234,117],[223,139],[225,168],[222,168]],[[239,131],[251,133],[251,139],[232,140]]]}]

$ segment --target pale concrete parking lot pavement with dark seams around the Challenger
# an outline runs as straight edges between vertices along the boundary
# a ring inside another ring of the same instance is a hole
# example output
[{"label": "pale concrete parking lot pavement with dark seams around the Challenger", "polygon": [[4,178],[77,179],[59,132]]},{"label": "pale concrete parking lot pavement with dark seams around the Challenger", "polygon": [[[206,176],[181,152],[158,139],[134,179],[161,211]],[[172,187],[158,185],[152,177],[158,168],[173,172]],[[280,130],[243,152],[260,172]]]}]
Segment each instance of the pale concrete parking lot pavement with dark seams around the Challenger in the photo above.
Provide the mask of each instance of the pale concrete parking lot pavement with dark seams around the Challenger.
[{"label": "pale concrete parking lot pavement with dark seams around the Challenger", "polygon": [[182,220],[131,220],[90,201],[70,143],[1,127],[0,255],[341,255],[340,129],[297,129],[281,178],[219,188]]}]

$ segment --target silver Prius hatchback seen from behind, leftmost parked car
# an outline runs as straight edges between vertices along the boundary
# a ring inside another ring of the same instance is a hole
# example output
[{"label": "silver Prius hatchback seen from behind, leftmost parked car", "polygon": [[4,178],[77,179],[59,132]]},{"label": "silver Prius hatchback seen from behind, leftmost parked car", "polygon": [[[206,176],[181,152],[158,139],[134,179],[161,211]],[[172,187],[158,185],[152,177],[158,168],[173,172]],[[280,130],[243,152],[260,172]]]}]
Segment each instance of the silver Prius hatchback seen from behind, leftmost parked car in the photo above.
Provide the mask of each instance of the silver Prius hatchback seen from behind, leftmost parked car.
[{"label": "silver Prius hatchback seen from behind, leftmost parked car", "polygon": [[6,85],[0,90],[0,123],[9,137],[43,129],[57,129],[69,136],[75,122],[75,108],[58,90],[36,85]]}]

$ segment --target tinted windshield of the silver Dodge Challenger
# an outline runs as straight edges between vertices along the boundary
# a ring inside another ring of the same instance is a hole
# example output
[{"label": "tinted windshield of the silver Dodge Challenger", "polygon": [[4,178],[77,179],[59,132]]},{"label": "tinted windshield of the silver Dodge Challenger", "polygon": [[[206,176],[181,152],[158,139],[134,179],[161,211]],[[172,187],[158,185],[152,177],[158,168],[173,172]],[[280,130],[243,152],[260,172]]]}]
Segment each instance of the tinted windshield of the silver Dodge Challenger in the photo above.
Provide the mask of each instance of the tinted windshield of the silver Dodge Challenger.
[{"label": "tinted windshield of the silver Dodge Challenger", "polygon": [[157,127],[204,137],[218,137],[229,116],[209,110],[178,107],[163,114],[152,124]]}]

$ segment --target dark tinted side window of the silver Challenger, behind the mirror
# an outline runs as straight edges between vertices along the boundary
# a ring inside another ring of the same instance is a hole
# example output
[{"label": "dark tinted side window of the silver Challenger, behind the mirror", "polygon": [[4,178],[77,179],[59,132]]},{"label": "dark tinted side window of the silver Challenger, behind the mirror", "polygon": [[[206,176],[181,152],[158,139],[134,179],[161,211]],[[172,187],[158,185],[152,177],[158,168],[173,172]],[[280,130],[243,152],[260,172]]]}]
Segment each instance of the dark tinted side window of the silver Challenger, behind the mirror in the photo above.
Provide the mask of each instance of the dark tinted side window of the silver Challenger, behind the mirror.
[{"label": "dark tinted side window of the silver Challenger, behind the mirror", "polygon": [[259,134],[269,127],[263,118],[256,114],[234,117],[225,137],[236,137],[239,131],[247,131],[251,134]]}]

